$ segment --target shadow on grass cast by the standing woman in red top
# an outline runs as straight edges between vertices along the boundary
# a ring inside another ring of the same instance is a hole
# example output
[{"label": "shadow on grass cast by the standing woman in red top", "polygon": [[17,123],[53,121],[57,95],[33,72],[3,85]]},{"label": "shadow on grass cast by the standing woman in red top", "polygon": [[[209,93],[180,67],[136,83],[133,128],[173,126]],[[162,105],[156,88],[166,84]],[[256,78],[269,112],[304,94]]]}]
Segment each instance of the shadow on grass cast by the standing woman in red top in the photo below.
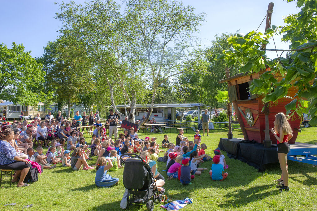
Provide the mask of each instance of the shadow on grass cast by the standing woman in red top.
[{"label": "shadow on grass cast by the standing woman in red top", "polygon": [[262,200],[271,195],[278,195],[280,193],[277,188],[276,190],[265,191],[271,187],[272,185],[262,185],[247,190],[237,189],[235,192],[225,195],[224,197],[227,198],[227,201],[224,201],[218,206],[222,208],[232,208],[232,206],[243,207],[254,201]]}]

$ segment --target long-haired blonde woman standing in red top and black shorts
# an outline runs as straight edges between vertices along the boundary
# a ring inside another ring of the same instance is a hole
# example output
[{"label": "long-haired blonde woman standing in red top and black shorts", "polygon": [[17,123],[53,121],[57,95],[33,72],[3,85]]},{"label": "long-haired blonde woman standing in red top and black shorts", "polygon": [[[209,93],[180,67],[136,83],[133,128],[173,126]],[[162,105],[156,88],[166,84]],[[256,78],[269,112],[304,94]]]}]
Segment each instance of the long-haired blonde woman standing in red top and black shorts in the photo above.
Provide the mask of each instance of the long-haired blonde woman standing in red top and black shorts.
[{"label": "long-haired blonde woman standing in red top and black shorts", "polygon": [[288,123],[284,113],[276,114],[273,123],[274,128],[271,128],[271,132],[277,139],[277,156],[282,170],[281,178],[276,181],[281,182],[280,191],[284,191],[289,190],[287,154],[289,152],[288,140],[293,137],[293,134],[291,125]]}]

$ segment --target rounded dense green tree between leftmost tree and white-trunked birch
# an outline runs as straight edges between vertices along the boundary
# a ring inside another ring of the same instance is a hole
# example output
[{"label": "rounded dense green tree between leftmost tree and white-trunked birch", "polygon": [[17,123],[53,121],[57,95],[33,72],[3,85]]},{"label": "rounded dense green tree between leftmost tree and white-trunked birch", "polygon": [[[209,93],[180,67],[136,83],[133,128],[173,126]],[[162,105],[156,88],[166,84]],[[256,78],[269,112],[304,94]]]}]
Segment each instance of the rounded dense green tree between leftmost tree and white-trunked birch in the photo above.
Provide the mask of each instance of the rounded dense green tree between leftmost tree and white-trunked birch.
[{"label": "rounded dense green tree between leftmost tree and white-trunked birch", "polygon": [[[49,42],[38,61],[44,64],[46,86],[54,91],[59,109],[61,105],[71,107],[72,103],[79,102],[79,94],[88,94],[93,87],[91,60],[85,47],[73,37],[61,36]],[[70,109],[67,116],[70,116]]]}]

